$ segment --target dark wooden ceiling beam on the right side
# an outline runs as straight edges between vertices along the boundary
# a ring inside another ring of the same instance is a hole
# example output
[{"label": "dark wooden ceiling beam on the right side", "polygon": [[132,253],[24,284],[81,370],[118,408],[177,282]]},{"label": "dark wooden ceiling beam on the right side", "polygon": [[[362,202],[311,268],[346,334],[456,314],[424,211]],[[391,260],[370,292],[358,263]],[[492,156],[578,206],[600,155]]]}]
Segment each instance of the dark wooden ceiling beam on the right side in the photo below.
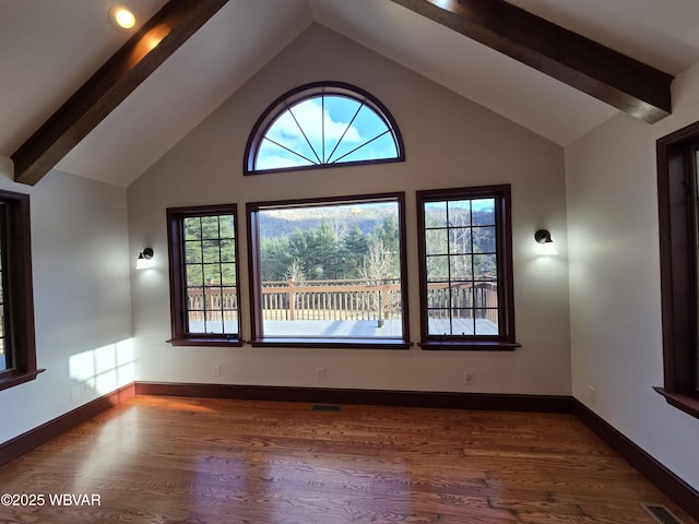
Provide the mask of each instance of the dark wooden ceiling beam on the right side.
[{"label": "dark wooden ceiling beam on the right side", "polygon": [[503,0],[392,1],[645,122],[672,111],[672,75]]}]

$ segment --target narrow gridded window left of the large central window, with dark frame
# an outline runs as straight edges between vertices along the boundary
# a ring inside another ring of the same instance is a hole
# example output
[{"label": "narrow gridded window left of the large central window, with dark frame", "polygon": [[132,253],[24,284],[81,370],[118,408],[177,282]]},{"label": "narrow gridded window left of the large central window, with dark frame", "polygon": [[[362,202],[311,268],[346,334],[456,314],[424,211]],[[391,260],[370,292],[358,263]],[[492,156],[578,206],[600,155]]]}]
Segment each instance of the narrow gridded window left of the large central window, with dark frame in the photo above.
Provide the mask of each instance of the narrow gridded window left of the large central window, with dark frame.
[{"label": "narrow gridded window left of the large central window, with dark frame", "polygon": [[167,210],[175,345],[240,345],[236,205]]}]

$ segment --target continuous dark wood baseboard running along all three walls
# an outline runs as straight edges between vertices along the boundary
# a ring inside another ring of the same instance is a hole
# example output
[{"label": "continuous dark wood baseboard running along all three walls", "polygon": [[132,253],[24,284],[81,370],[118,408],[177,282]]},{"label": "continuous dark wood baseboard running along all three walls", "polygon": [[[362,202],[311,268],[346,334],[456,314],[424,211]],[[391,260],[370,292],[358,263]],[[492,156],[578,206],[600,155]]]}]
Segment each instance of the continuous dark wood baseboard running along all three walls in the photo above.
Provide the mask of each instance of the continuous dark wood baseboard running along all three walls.
[{"label": "continuous dark wood baseboard running along all three walls", "polygon": [[134,395],[366,404],[382,406],[571,413],[655,487],[699,521],[699,491],[677,477],[578,400],[564,395],[516,395],[425,391],[346,390],[174,382],[132,382],[0,445],[0,465],[25,454]]}]

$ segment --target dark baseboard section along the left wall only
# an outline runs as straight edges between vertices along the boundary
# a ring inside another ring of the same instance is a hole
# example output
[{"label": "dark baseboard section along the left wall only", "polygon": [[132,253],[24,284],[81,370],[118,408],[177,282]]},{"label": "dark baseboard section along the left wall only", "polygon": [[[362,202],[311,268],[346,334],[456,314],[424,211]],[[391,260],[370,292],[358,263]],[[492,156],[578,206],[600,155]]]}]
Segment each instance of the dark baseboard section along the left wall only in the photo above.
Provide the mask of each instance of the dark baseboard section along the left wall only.
[{"label": "dark baseboard section along the left wall only", "polygon": [[100,413],[128,401],[134,394],[135,388],[132,382],[4,442],[0,445],[0,466]]}]

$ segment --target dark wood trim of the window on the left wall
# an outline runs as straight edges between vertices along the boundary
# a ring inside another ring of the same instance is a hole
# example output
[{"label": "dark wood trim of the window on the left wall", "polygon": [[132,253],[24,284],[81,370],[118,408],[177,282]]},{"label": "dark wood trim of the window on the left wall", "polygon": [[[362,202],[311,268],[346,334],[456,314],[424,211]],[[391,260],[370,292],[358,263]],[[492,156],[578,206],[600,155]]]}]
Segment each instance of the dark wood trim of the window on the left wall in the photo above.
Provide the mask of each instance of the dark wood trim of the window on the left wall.
[{"label": "dark wood trim of the window on the left wall", "polygon": [[7,252],[3,302],[10,330],[5,347],[10,366],[0,372],[0,390],[5,390],[32,381],[45,370],[36,367],[29,195],[0,191],[0,202],[7,224],[7,242],[2,247]]}]

